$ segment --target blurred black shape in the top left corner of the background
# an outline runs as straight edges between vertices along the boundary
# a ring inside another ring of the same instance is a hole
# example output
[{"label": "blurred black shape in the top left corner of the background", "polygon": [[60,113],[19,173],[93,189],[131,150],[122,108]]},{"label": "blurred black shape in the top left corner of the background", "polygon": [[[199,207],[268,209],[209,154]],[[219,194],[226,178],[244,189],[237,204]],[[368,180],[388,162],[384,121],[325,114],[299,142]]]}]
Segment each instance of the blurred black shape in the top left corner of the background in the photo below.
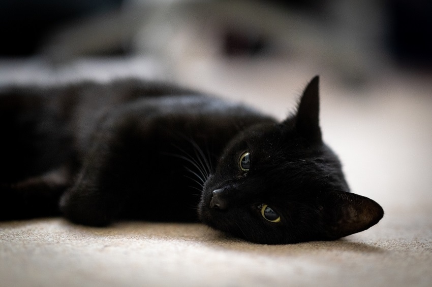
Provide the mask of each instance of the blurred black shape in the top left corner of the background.
[{"label": "blurred black shape in the top left corner of the background", "polygon": [[0,56],[31,56],[40,42],[70,20],[118,9],[122,0],[2,0]]}]

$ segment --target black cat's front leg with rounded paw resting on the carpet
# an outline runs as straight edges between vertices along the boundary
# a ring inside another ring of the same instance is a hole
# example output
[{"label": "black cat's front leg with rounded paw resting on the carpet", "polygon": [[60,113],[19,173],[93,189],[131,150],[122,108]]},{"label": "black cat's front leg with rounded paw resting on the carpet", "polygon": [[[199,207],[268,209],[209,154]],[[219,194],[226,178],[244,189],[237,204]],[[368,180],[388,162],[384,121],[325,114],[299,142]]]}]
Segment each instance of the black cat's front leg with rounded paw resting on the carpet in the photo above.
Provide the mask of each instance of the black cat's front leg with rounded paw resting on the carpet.
[{"label": "black cat's front leg with rounded paw resting on the carpet", "polygon": [[67,219],[106,226],[118,218],[133,193],[131,162],[140,140],[135,132],[137,121],[133,113],[122,109],[100,123],[74,184],[60,199],[60,210]]}]

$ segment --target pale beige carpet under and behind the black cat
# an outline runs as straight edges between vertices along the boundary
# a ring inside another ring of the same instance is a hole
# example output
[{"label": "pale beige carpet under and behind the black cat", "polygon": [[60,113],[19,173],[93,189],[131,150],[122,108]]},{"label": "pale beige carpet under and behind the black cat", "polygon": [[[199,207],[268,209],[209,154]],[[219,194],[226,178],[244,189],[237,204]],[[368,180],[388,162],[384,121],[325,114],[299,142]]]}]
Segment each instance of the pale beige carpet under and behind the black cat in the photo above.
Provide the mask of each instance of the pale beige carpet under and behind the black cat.
[{"label": "pale beige carpet under and behind the black cat", "polygon": [[52,67],[2,61],[0,84],[118,76],[168,79],[248,102],[280,119],[321,75],[321,126],[353,192],[385,216],[337,241],[258,245],[201,224],[62,219],[0,223],[2,286],[431,286],[432,77],[389,68],[361,85],[284,59],[195,61],[173,73],[148,58],[82,59]]}]

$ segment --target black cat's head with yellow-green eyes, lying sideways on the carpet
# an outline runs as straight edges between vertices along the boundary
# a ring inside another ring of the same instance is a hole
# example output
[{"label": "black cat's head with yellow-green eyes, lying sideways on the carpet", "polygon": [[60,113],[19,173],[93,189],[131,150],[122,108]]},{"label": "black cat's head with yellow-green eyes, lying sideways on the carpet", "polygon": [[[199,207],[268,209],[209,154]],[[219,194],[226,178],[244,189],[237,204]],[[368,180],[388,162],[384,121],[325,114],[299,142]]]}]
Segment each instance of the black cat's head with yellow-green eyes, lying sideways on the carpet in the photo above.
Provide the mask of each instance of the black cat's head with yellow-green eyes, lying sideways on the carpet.
[{"label": "black cat's head with yellow-green eyes, lying sideways on the carpet", "polygon": [[332,240],[380,221],[375,201],[349,192],[340,161],[323,143],[319,79],[297,113],[280,124],[244,130],[226,148],[203,187],[207,225],[267,244]]}]

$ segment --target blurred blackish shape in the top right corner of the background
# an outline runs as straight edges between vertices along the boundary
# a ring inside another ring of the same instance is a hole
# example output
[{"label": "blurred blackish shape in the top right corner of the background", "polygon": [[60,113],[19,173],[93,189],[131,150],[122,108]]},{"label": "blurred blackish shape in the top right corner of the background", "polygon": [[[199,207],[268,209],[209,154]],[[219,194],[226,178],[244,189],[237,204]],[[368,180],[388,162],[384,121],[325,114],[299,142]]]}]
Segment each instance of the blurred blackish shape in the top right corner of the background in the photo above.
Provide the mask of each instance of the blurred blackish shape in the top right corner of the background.
[{"label": "blurred blackish shape in the top right corner of the background", "polygon": [[397,61],[432,67],[432,1],[388,0],[389,49]]}]

